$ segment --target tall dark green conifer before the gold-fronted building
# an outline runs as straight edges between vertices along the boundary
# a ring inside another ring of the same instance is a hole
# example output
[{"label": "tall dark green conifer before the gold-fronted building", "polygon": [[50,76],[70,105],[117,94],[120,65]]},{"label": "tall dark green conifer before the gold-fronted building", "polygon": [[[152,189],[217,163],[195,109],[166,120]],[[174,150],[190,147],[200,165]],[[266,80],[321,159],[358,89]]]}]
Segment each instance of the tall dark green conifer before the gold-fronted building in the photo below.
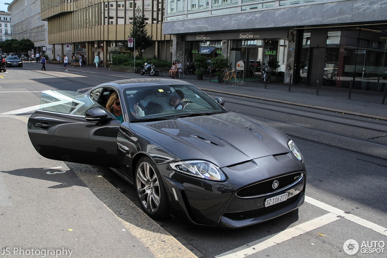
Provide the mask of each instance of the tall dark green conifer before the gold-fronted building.
[{"label": "tall dark green conifer before the gold-fronted building", "polygon": [[[153,45],[152,36],[148,35],[148,31],[146,29],[145,15],[142,14],[142,10],[139,7],[137,7],[137,9],[135,10],[133,25],[130,29],[129,38],[136,39],[135,47],[136,50],[139,52],[139,56],[142,55],[142,50],[145,50]],[[126,44],[125,50],[130,50],[128,49]]]}]

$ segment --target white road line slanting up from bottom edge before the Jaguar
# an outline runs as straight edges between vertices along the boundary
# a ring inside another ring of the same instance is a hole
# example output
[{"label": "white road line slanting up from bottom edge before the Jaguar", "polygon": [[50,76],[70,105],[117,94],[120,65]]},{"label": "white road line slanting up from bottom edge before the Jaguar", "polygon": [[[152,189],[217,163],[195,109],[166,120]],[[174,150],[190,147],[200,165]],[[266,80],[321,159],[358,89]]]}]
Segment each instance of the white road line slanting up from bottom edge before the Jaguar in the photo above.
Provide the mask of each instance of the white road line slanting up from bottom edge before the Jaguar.
[{"label": "white road line slanting up from bottom edge before the Jaguar", "polygon": [[262,251],[263,249],[274,246],[278,243],[282,243],[293,237],[300,236],[301,234],[317,229],[319,227],[322,227],[324,225],[329,224],[330,222],[334,222],[335,220],[339,220],[339,219],[340,217],[338,217],[336,214],[328,213],[321,217],[304,222],[300,225],[296,225],[289,229],[285,229],[279,232],[278,234],[274,234],[272,236],[265,237],[264,239],[260,239],[258,241],[254,241],[250,244],[247,244],[246,246],[249,246],[248,248],[246,248],[246,246],[243,246],[243,247],[228,251],[226,253],[223,253],[221,255],[217,255],[215,257],[216,258],[243,258],[248,255],[252,255],[253,253]]}]

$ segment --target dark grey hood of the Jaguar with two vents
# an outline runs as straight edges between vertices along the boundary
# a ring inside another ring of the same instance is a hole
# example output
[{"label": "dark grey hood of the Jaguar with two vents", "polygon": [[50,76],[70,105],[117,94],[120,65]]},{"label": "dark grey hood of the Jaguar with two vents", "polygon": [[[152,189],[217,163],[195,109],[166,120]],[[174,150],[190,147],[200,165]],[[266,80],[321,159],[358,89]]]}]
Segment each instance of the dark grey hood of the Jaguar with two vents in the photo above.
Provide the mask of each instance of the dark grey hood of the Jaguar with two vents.
[{"label": "dark grey hood of the Jaguar with two vents", "polygon": [[208,160],[219,167],[290,151],[283,132],[233,112],[136,122],[130,128],[182,160]]}]

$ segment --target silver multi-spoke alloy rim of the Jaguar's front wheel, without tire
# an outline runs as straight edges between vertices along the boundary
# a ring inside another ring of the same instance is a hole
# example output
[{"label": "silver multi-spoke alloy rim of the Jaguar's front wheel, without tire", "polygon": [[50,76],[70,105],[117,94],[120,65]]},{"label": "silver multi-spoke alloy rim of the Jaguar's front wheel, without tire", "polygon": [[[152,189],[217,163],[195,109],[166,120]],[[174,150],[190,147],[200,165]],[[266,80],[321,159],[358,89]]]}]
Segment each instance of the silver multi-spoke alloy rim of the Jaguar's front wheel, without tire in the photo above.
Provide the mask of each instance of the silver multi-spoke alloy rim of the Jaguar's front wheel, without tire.
[{"label": "silver multi-spoke alloy rim of the Jaguar's front wheel, without tire", "polygon": [[160,205],[160,186],[156,172],[148,162],[140,163],[137,173],[137,194],[144,209],[156,213]]}]

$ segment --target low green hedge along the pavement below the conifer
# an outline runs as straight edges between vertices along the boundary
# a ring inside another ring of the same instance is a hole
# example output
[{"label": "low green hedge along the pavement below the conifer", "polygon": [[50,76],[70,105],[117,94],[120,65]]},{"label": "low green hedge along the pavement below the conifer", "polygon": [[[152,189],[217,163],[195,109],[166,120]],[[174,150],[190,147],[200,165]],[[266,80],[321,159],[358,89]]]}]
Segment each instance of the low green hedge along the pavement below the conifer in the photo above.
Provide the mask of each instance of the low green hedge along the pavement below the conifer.
[{"label": "low green hedge along the pavement below the conifer", "polygon": [[[111,62],[113,63],[113,65],[117,66],[133,67],[134,58],[130,55],[115,54],[111,56]],[[144,63],[152,63],[155,65],[155,67],[158,68],[170,68],[172,66],[172,62],[156,58],[155,56],[152,58],[138,56],[136,57],[136,67],[140,68]]]}]

